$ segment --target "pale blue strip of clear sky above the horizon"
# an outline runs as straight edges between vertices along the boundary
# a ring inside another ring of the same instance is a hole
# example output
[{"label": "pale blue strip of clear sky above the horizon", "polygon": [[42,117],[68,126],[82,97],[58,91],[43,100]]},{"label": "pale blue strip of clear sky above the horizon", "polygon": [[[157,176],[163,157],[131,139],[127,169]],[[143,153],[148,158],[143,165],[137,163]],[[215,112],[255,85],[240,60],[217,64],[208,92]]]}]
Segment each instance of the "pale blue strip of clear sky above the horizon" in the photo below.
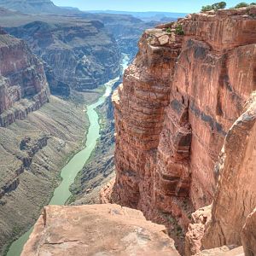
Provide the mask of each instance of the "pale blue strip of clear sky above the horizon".
[{"label": "pale blue strip of clear sky above the horizon", "polygon": [[[122,10],[122,11],[162,11],[174,13],[198,12],[201,6],[220,2],[209,0],[52,0],[55,5],[78,7],[81,10]],[[236,3],[252,3],[253,0],[227,0],[227,7]]]}]

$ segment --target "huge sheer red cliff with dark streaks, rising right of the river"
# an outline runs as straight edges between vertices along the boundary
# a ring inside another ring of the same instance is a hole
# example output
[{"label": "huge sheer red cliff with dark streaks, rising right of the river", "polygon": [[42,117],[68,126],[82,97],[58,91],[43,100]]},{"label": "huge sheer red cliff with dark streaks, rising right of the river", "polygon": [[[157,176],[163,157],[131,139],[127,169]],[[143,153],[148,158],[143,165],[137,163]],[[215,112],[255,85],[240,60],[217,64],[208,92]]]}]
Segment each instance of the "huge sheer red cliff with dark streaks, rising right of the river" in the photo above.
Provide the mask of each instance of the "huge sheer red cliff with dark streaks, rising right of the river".
[{"label": "huge sheer red cliff with dark streaks, rising right of the river", "polygon": [[189,201],[194,208],[212,202],[224,137],[256,89],[255,12],[189,15],[178,21],[184,36],[144,33],[113,96],[122,204],[149,218],[172,213],[186,226]]}]

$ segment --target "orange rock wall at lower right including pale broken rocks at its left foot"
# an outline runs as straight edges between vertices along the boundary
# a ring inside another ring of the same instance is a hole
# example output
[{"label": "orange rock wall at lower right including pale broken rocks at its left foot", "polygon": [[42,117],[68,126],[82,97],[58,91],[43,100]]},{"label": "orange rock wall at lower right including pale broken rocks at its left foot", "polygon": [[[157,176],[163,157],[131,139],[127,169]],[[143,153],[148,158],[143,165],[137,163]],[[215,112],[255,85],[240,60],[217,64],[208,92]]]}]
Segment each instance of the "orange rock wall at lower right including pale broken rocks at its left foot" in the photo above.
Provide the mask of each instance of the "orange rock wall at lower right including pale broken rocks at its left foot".
[{"label": "orange rock wall at lower right including pale broken rocks at its left foot", "polygon": [[231,126],[216,164],[218,189],[211,206],[192,214],[186,255],[201,249],[243,245],[254,255],[256,228],[256,92]]}]

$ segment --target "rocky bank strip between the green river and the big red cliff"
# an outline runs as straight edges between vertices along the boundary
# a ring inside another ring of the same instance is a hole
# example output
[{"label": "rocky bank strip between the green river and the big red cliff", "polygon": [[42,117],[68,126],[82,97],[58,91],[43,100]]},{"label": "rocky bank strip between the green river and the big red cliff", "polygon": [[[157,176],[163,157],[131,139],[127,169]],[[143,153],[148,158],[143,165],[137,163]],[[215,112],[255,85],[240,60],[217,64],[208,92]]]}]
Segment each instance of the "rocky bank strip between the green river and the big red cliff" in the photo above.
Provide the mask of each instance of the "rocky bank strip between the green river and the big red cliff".
[{"label": "rocky bank strip between the green river and the big red cliff", "polygon": [[[130,59],[124,55],[122,67],[123,72],[128,66]],[[122,78],[114,84],[113,90],[122,82]],[[113,151],[114,151],[114,121],[113,105],[111,96],[96,108],[101,125],[101,136],[96,148],[90,155],[83,169],[79,172],[75,182],[71,186],[72,196],[68,203],[73,205],[97,204],[100,203],[100,191],[115,175]]]}]

